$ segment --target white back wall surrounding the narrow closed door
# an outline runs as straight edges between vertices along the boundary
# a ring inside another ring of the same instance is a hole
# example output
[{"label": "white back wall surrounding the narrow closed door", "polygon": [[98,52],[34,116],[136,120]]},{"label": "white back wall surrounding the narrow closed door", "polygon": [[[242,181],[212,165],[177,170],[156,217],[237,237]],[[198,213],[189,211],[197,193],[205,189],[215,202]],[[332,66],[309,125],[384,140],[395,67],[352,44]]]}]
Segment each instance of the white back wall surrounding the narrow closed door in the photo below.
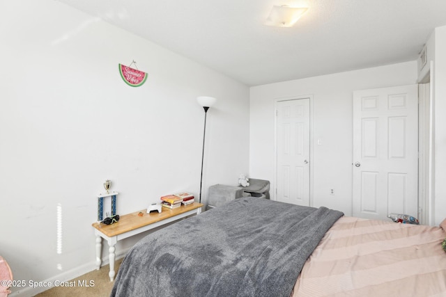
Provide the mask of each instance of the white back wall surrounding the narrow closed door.
[{"label": "white back wall surrounding the narrow closed door", "polygon": [[[249,174],[275,180],[275,100],[313,95],[312,205],[352,209],[352,92],[417,81],[416,61],[251,88]],[[322,145],[317,145],[320,139]],[[275,185],[271,185],[272,192]],[[334,195],[330,195],[330,189]]]}]

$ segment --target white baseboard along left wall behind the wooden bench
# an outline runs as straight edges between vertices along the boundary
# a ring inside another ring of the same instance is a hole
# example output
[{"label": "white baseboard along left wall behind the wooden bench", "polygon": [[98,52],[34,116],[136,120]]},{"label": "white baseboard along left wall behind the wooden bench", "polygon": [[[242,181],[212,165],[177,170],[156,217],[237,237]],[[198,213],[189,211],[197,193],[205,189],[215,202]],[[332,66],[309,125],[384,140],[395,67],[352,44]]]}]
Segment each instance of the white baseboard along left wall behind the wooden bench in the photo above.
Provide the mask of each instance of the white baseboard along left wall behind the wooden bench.
[{"label": "white baseboard along left wall behind the wooden bench", "polygon": [[[120,249],[120,251],[116,253],[116,260],[123,258],[127,254],[128,250],[130,250],[130,248],[126,248],[125,250]],[[102,259],[101,267],[105,266],[107,264],[109,264],[108,254],[107,254],[107,257],[104,257]],[[79,278],[79,276],[84,275],[85,273],[89,273],[90,271],[93,271],[95,269],[96,269],[96,261],[93,260],[93,261],[83,264],[81,266],[77,266],[76,268],[72,268],[69,271],[64,271],[63,273],[54,275],[54,277],[48,278],[47,280],[41,280],[41,282],[51,282],[52,284],[54,284],[55,281],[68,282],[69,280],[72,280],[74,278]],[[39,293],[42,293],[43,291],[46,291],[47,289],[51,289],[51,288],[50,287],[24,287],[23,289],[20,289],[18,291],[13,291],[8,296],[10,296],[10,297],[35,296]]]}]

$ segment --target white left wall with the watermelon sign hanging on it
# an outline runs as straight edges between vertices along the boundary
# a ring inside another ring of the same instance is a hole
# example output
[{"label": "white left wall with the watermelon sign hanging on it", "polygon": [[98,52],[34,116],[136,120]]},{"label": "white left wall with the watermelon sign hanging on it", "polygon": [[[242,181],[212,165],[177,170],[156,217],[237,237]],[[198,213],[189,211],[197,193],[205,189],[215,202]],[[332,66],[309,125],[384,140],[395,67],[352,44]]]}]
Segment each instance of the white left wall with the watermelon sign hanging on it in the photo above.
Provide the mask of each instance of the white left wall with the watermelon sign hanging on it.
[{"label": "white left wall with the watermelon sign hanging on it", "polygon": [[[120,193],[118,214],[176,191],[198,195],[199,95],[219,99],[208,111],[205,197],[208,186],[236,184],[248,172],[243,84],[52,0],[1,1],[0,40],[0,255],[15,280],[93,270],[91,223],[105,179]],[[132,60],[148,72],[139,88],[118,73],[118,63]],[[118,243],[116,252],[137,239]]]}]

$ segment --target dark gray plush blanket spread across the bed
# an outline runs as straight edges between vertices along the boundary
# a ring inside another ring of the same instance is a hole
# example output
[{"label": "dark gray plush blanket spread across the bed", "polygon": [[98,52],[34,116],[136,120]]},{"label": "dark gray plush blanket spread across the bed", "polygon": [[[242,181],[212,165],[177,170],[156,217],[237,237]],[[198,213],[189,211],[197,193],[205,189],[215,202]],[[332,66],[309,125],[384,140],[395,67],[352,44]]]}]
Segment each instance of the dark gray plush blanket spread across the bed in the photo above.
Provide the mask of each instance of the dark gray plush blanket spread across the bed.
[{"label": "dark gray plush blanket spread across the bed", "polygon": [[112,296],[289,296],[343,214],[240,198],[149,234],[125,256]]}]

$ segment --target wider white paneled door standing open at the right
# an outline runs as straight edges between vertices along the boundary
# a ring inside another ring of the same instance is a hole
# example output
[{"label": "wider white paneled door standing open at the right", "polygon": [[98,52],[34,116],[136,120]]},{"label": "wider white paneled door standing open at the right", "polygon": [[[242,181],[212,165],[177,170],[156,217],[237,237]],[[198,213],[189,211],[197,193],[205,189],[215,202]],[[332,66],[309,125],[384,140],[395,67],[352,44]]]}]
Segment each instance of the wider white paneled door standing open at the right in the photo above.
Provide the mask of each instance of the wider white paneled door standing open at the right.
[{"label": "wider white paneled door standing open at the right", "polygon": [[353,93],[353,216],[417,216],[417,86]]}]

